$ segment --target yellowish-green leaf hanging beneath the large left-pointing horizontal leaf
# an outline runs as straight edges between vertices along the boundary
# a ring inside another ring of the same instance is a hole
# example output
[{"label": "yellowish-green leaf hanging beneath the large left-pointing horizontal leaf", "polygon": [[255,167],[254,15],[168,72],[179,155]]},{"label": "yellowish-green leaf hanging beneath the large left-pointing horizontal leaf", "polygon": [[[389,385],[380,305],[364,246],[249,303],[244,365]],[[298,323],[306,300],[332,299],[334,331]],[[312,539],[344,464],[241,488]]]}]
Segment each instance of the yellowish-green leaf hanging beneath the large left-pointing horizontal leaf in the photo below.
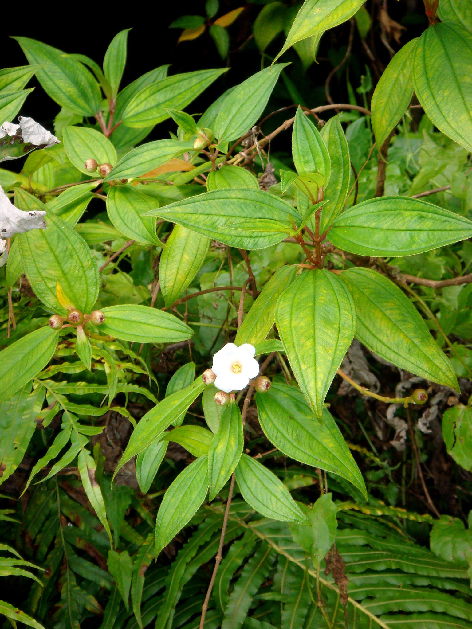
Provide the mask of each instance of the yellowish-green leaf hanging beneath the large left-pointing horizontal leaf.
[{"label": "yellowish-green leaf hanging beneath the large left-pointing horizontal leaf", "polygon": [[160,290],[166,306],[171,306],[193,282],[205,262],[210,238],[176,225],[167,238],[159,262]]}]

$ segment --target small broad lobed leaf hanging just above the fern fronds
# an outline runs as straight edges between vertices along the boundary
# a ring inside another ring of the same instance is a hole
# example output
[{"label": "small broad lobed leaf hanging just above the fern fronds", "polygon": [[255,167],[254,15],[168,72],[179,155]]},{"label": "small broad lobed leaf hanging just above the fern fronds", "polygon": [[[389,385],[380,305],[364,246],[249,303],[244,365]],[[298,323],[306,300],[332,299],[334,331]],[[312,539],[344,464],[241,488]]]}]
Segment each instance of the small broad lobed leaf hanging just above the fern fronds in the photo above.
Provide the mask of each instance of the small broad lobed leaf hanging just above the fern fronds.
[{"label": "small broad lobed leaf hanging just above the fern fronds", "polygon": [[315,569],[334,544],[337,530],[337,506],[332,501],[333,494],[324,494],[311,509],[304,508],[311,526],[291,524],[293,539],[312,557]]}]

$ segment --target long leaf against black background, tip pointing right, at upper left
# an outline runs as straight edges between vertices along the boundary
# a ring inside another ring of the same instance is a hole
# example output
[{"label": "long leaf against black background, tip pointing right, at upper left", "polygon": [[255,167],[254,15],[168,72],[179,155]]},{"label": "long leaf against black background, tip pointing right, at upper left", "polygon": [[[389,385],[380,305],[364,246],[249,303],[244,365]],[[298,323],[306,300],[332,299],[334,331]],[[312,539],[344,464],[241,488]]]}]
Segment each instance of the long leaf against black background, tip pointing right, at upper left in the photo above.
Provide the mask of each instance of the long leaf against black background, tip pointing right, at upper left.
[{"label": "long leaf against black background, tip pointing right, at upper left", "polygon": [[126,126],[138,128],[157,125],[169,118],[167,109],[184,109],[226,71],[197,70],[156,81],[133,97],[121,120]]}]

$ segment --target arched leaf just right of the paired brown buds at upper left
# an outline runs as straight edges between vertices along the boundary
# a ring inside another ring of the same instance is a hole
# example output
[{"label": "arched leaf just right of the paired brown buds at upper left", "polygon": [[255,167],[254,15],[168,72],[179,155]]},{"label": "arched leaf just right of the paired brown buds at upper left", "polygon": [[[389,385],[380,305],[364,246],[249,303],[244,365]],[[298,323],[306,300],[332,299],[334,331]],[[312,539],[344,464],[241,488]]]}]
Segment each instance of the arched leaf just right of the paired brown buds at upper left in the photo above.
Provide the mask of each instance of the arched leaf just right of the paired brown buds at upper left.
[{"label": "arched leaf just right of the paired brown buds at upper left", "polygon": [[126,153],[105,177],[105,181],[139,177],[162,164],[166,164],[172,157],[192,150],[194,150],[193,142],[180,142],[180,140],[147,142]]}]

